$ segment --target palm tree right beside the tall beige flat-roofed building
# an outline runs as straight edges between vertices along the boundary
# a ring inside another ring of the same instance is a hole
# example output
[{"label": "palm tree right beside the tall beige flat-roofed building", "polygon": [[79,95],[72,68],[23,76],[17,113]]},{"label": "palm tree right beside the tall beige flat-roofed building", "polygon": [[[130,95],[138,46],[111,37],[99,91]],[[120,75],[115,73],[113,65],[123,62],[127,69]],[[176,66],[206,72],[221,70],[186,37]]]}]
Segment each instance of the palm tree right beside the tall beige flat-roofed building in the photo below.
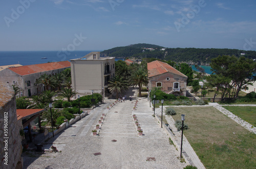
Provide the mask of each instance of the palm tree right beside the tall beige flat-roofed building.
[{"label": "palm tree right beside the tall beige flat-roofed building", "polygon": [[129,88],[129,84],[127,80],[124,80],[121,76],[117,75],[114,78],[110,79],[108,88],[111,92],[114,91],[117,93],[116,99],[118,99],[119,93],[121,93],[123,89]]}]

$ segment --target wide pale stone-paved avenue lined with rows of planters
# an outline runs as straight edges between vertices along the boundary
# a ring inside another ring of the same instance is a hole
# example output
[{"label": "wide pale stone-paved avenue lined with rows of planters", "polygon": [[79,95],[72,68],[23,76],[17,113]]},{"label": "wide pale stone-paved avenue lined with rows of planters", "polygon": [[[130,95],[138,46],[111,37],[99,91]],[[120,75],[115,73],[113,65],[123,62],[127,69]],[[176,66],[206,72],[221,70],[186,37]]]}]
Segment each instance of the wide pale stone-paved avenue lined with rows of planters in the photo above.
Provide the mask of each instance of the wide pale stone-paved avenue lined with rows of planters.
[{"label": "wide pale stone-paved avenue lined with rows of planters", "polygon": [[[137,90],[127,92],[136,98]],[[51,138],[45,145],[52,145],[61,152],[45,154],[27,152],[23,154],[24,168],[183,168],[177,158],[179,151],[169,144],[169,136],[152,116],[152,108],[146,98],[117,103],[107,110],[114,100],[89,112],[79,122]],[[106,113],[99,130],[93,136],[92,130],[98,124],[102,113]],[[136,114],[143,136],[138,136],[132,114]]]}]

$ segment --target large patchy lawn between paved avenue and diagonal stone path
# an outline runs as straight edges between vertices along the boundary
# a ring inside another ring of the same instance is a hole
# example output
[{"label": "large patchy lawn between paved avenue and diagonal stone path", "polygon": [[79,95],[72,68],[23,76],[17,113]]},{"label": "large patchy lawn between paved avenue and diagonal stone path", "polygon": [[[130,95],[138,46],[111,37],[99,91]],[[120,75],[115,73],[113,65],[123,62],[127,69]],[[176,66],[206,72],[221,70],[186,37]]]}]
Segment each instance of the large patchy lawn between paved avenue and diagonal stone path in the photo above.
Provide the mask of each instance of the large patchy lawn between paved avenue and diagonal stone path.
[{"label": "large patchy lawn between paved avenue and diagonal stone path", "polygon": [[[206,168],[256,168],[256,135],[213,107],[175,107],[183,131]],[[235,134],[233,134],[235,133]]]}]

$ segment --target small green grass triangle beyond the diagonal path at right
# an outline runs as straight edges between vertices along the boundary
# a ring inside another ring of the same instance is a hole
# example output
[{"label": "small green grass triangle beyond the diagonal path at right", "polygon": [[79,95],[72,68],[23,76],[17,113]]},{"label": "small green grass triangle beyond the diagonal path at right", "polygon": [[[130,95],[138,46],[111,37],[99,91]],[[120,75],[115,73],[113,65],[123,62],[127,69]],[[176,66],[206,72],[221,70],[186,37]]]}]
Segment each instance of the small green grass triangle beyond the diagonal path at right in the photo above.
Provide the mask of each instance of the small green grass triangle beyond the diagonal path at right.
[{"label": "small green grass triangle beyond the diagonal path at right", "polygon": [[256,126],[256,108],[251,106],[223,106],[228,111],[242,118],[249,124]]}]

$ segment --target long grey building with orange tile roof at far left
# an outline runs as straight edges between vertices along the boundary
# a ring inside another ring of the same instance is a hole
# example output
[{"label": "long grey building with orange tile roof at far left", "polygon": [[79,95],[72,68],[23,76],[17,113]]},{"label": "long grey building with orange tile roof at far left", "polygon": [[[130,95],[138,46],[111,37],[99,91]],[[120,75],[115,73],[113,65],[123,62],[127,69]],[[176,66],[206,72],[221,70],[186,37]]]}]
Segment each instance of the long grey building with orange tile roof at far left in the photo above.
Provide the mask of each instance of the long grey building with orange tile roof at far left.
[{"label": "long grey building with orange tile roof at far left", "polygon": [[53,76],[67,68],[70,68],[69,61],[8,67],[0,71],[0,81],[9,84],[9,86],[16,84],[22,88],[23,92],[20,93],[20,96],[31,96],[45,90],[42,84],[34,85],[36,79],[41,75]]}]

